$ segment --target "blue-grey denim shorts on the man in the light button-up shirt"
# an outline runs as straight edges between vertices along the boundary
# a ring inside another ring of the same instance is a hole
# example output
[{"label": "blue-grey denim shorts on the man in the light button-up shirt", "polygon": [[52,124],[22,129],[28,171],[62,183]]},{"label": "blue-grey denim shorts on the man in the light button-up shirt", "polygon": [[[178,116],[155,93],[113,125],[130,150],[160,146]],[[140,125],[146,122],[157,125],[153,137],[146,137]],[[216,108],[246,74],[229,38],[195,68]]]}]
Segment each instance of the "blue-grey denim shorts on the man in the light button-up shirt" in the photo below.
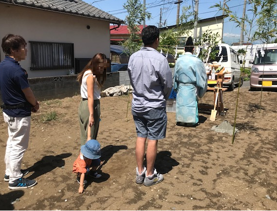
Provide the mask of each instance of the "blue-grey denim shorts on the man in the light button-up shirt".
[{"label": "blue-grey denim shorts on the man in the light button-up shirt", "polygon": [[166,108],[152,108],[146,112],[132,110],[132,115],[138,137],[149,140],[166,138]]}]

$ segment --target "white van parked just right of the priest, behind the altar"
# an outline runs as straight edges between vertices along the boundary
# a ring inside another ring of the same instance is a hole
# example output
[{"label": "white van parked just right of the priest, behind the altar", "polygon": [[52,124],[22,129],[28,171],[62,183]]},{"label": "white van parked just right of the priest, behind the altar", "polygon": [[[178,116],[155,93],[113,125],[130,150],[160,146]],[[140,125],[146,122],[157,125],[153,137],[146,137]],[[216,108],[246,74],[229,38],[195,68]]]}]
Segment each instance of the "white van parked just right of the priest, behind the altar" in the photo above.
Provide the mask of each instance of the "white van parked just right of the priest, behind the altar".
[{"label": "white van parked just right of the priest, behind the altar", "polygon": [[221,61],[221,66],[225,68],[229,73],[224,74],[224,80],[229,80],[228,82],[223,82],[223,86],[228,86],[229,90],[234,90],[235,87],[239,87],[243,83],[241,78],[240,80],[240,63],[239,53],[232,49],[228,44],[219,44],[216,46],[217,53],[215,60],[210,60],[210,62]]}]

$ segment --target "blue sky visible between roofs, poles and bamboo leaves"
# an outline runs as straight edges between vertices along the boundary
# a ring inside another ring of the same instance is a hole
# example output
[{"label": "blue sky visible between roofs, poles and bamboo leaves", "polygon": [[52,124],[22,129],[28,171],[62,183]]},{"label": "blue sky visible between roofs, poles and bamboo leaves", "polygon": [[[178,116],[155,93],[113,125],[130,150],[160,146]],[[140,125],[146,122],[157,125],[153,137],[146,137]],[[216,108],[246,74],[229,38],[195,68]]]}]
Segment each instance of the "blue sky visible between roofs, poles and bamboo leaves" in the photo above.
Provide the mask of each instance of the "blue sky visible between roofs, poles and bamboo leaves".
[{"label": "blue sky visible between roofs, poles and bamboo leaves", "polygon": [[[85,0],[87,3],[92,4],[109,14],[125,19],[127,15],[126,10],[123,8],[123,4],[127,0]],[[141,0],[143,3],[143,0]],[[146,20],[146,25],[156,25],[158,26],[160,22],[160,11],[162,8],[162,23],[167,24],[167,26],[176,24],[177,17],[177,4],[174,4],[177,0],[146,0],[147,11],[151,13],[150,20]],[[193,0],[183,0],[180,5],[180,14],[182,12],[183,6],[188,6],[194,4]],[[222,11],[218,11],[217,8],[210,8],[216,3],[222,4],[223,0],[199,0],[199,18],[212,18],[215,16],[221,16]],[[242,17],[244,0],[229,0],[226,4],[229,8],[237,14],[238,17]],[[246,15],[251,15],[249,8],[246,7]],[[238,42],[240,40],[240,27],[236,27],[236,23],[229,21],[229,18],[224,19],[223,28],[223,41],[231,44],[233,42]],[[246,39],[246,38],[245,38]]]}]

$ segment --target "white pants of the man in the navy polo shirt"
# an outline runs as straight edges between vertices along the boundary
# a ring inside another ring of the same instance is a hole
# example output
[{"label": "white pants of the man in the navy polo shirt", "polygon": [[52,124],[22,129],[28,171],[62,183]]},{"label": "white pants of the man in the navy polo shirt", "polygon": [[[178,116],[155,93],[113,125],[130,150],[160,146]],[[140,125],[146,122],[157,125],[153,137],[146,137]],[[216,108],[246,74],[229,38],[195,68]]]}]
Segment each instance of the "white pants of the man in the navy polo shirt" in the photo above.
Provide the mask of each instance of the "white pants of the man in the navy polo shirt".
[{"label": "white pants of the man in the navy polo shirt", "polygon": [[7,141],[5,163],[5,174],[10,176],[9,183],[22,177],[20,171],[21,161],[25,150],[28,148],[31,128],[31,116],[10,117],[3,112],[4,121],[8,124],[9,138]]}]

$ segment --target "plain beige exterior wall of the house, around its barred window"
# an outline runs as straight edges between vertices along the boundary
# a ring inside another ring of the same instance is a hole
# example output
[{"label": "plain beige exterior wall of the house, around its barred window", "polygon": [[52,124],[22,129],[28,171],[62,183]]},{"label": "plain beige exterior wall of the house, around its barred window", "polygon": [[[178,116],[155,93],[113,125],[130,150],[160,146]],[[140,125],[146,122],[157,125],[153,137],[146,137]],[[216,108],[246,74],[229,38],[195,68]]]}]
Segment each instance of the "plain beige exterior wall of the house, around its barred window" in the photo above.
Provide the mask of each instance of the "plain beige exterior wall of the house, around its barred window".
[{"label": "plain beige exterior wall of the house, around its barred window", "polygon": [[[83,18],[39,9],[0,3],[0,40],[6,34],[21,35],[27,42],[74,43],[74,58],[92,58],[95,53],[110,57],[108,21]],[[91,28],[87,29],[87,25]],[[5,55],[0,50],[1,60]],[[30,51],[20,62],[29,78],[67,75],[69,70],[30,70]]]}]

